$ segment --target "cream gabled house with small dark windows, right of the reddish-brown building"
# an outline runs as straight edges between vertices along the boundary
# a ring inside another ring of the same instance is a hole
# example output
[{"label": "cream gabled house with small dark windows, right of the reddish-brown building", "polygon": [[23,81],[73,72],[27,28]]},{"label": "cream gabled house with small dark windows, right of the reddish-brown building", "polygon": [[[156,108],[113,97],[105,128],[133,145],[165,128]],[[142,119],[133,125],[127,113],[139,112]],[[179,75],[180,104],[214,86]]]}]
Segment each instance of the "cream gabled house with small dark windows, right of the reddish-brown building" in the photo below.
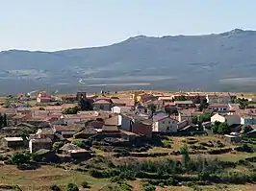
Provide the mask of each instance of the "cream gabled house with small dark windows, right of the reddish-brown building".
[{"label": "cream gabled house with small dark windows, right of the reddish-brown building", "polygon": [[178,121],[170,116],[155,117],[153,120],[153,131],[176,132]]}]

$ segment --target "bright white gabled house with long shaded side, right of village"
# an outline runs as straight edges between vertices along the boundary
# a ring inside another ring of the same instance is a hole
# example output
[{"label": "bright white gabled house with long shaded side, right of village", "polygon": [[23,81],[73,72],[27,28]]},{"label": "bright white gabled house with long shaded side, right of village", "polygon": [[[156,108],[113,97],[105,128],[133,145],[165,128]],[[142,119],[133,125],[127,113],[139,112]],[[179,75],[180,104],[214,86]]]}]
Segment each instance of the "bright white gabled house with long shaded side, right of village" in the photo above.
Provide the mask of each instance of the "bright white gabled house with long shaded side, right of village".
[{"label": "bright white gabled house with long shaded side, right of village", "polygon": [[220,123],[226,122],[228,126],[232,126],[234,124],[241,124],[241,117],[239,115],[233,114],[233,115],[228,115],[228,114],[218,114],[216,113],[211,117],[211,122],[215,123],[216,121]]}]

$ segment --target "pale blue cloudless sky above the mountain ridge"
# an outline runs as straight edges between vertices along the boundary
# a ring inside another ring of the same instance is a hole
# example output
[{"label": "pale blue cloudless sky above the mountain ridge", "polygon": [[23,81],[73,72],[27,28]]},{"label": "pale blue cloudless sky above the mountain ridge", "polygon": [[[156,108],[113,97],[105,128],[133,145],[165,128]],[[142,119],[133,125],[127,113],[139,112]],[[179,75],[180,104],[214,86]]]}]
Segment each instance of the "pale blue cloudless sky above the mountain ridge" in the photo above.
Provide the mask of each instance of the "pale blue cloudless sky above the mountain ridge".
[{"label": "pale blue cloudless sky above the mountain ridge", "polygon": [[256,30],[255,0],[0,0],[0,51]]}]

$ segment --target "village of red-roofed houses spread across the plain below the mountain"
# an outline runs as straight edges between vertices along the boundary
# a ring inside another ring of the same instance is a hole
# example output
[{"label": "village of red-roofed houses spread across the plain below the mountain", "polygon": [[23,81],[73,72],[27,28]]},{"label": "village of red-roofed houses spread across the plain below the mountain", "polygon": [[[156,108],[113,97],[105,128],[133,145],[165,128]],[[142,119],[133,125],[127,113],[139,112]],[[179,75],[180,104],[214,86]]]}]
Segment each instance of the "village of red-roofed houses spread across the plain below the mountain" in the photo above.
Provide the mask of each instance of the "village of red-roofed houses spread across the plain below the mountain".
[{"label": "village of red-roofed houses spread across the plain below the mountain", "polygon": [[[108,154],[116,158],[183,155],[182,146],[175,147],[181,138],[179,144],[188,143],[192,155],[253,153],[242,143],[256,138],[255,103],[253,96],[227,92],[9,95],[0,109],[0,155],[3,165],[10,162],[4,155],[22,152],[41,164],[82,165]],[[36,168],[17,165],[20,170]]]}]

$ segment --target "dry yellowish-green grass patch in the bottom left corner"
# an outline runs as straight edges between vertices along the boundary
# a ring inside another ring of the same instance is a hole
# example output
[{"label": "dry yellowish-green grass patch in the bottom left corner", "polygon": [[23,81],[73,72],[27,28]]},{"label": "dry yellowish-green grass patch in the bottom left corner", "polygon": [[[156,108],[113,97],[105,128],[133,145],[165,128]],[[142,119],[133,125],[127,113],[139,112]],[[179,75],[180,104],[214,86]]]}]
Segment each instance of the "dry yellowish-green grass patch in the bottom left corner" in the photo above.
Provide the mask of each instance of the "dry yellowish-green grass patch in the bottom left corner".
[{"label": "dry yellowish-green grass patch in the bottom left corner", "polygon": [[77,185],[87,180],[90,183],[90,190],[99,190],[108,184],[107,179],[94,179],[89,175],[77,172],[66,171],[53,166],[42,166],[38,170],[20,171],[15,166],[3,165],[0,172],[0,183],[5,185],[19,185],[22,190],[49,190],[50,185],[56,184],[64,188],[67,183],[73,182]]}]

